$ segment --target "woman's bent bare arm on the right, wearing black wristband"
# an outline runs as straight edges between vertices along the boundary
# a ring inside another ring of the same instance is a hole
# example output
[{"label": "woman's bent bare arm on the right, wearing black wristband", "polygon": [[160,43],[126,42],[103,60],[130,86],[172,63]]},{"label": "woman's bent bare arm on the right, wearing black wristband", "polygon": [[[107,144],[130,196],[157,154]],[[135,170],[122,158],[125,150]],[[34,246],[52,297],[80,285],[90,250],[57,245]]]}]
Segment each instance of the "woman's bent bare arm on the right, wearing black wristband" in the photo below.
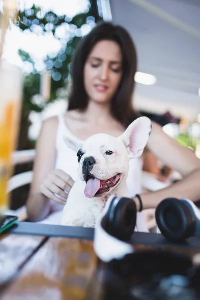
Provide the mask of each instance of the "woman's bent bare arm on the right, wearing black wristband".
[{"label": "woman's bent bare arm on the right, wearing black wristband", "polygon": [[[152,123],[147,146],[164,164],[178,171],[183,179],[164,189],[141,194],[143,209],[156,208],[159,202],[167,197],[189,198],[193,202],[199,200],[200,159],[194,152],[170,138],[156,123]],[[135,201],[139,205],[137,198]]]}]

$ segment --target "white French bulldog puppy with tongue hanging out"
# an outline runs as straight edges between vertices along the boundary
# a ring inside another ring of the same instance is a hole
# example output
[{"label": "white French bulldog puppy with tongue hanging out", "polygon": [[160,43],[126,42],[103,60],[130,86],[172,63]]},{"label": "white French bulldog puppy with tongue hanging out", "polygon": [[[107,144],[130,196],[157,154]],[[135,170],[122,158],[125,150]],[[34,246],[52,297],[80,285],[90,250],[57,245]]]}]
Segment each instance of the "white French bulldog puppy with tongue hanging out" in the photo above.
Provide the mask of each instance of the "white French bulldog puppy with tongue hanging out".
[{"label": "white French bulldog puppy with tongue hanging out", "polygon": [[143,153],[151,121],[139,117],[119,137],[95,134],[77,152],[78,179],[64,206],[61,225],[95,227],[110,195],[130,197],[126,185],[130,159]]}]

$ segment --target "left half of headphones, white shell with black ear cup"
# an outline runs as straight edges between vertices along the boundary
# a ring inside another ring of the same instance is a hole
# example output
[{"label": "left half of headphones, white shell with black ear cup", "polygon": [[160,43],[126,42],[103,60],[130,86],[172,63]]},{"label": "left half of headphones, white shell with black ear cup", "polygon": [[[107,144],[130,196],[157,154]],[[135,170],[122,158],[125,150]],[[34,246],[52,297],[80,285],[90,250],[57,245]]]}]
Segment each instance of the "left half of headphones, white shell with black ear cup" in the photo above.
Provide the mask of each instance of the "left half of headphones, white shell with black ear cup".
[{"label": "left half of headphones, white shell with black ear cup", "polygon": [[94,232],[94,249],[101,260],[108,262],[133,252],[127,241],[134,233],[136,216],[134,200],[109,197]]}]

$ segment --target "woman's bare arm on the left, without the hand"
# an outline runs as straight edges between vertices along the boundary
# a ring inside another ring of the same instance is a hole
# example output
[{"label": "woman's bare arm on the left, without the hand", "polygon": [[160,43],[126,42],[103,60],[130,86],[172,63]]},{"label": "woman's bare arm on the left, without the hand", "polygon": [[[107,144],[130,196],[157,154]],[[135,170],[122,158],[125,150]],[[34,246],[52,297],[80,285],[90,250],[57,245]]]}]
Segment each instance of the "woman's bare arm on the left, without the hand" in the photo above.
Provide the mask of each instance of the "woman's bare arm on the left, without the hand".
[{"label": "woman's bare arm on the left, without the hand", "polygon": [[37,140],[33,181],[26,203],[28,219],[30,221],[41,220],[46,217],[50,211],[50,200],[41,194],[40,185],[45,180],[47,174],[54,169],[57,126],[57,117],[45,120]]}]

